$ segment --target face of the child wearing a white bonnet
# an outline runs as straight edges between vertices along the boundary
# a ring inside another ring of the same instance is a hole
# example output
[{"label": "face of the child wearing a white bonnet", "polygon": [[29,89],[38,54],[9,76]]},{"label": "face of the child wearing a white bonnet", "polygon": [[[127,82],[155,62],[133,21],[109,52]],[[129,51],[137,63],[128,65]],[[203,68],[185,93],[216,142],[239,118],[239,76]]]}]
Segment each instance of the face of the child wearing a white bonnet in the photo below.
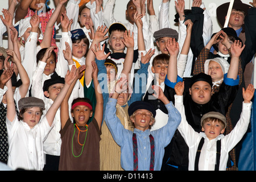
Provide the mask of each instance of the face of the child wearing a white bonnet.
[{"label": "face of the child wearing a white bonnet", "polygon": [[212,77],[212,81],[220,81],[224,77],[221,65],[216,61],[210,61],[208,66],[208,75]]}]

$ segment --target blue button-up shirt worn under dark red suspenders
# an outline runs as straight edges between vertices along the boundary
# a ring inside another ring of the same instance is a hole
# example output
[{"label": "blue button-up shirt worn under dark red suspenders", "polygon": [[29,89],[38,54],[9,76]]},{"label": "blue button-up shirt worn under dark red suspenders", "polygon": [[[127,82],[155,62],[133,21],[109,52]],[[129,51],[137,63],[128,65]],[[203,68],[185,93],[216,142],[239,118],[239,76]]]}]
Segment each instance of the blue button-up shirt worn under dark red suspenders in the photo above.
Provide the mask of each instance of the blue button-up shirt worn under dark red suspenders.
[{"label": "blue button-up shirt worn under dark red suspenders", "polygon": [[[133,171],[133,132],[124,129],[123,125],[119,121],[119,118],[115,114],[117,100],[109,98],[108,104],[105,110],[105,122],[108,126],[115,142],[121,146],[121,166],[126,171]],[[134,133],[137,135],[138,143],[138,170],[149,171],[150,170],[150,138],[151,134],[155,141],[155,166],[154,170],[159,171],[162,166],[162,160],[164,156],[164,147],[170,142],[175,133],[175,130],[180,124],[181,116],[179,111],[174,107],[172,102],[166,105],[168,110],[168,123],[159,130],[141,131],[134,129]],[[156,121],[157,122],[157,121]]]}]

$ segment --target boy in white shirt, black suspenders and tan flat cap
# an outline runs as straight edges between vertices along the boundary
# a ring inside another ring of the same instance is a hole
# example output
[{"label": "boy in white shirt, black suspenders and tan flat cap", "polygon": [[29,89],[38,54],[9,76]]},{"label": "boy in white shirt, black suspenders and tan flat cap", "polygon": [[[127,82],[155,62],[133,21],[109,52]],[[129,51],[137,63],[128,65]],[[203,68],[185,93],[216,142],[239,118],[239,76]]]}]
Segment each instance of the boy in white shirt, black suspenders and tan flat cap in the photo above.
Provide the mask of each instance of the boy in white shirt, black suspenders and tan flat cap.
[{"label": "boy in white shirt, black suspenders and tan flat cap", "polygon": [[225,115],[210,111],[201,117],[201,133],[197,133],[188,124],[183,105],[184,82],[175,85],[175,107],[180,111],[181,123],[178,127],[189,148],[189,171],[226,171],[229,151],[242,139],[250,122],[253,85],[243,88],[243,106],[241,117],[232,132],[224,135]]}]

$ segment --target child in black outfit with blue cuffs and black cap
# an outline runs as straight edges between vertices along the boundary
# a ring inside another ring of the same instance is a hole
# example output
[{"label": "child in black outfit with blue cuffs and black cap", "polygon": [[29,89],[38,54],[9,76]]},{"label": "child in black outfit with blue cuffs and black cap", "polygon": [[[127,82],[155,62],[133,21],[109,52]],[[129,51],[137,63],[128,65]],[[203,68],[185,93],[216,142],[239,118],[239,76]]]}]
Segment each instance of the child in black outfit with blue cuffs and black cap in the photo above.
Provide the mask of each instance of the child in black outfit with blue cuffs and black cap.
[{"label": "child in black outfit with blue cuffs and black cap", "polygon": [[[165,80],[166,86],[170,88],[168,89],[170,100],[173,102],[175,102],[174,87],[177,82],[183,81],[183,79],[177,76],[176,65],[176,59],[170,59],[168,75]],[[237,61],[234,61],[234,67],[238,67]],[[185,114],[189,125],[191,125],[195,131],[200,132],[200,119],[205,113],[218,111],[225,115],[229,105],[236,97],[238,82],[239,77],[237,76],[237,71],[232,71],[230,74],[226,73],[219,92],[212,94],[212,77],[203,72],[194,75],[187,83],[189,88],[185,89],[183,92]],[[188,169],[188,147],[177,130],[172,142],[166,147],[165,159],[167,160],[167,165],[174,167],[171,167],[171,169]]]}]

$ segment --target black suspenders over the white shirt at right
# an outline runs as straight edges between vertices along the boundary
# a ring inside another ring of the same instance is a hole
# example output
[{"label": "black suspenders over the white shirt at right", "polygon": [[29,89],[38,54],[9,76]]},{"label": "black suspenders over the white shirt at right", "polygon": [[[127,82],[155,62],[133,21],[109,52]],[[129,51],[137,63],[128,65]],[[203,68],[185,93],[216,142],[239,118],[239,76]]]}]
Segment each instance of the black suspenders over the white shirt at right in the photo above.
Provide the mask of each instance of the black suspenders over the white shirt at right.
[{"label": "black suspenders over the white shirt at right", "polygon": [[[195,171],[198,171],[198,163],[199,163],[199,157],[201,154],[201,149],[204,144],[204,138],[201,138],[199,146],[197,148],[196,152],[196,160],[195,160]],[[216,164],[214,171],[218,171],[220,167],[220,153],[221,152],[221,140],[217,140],[217,151],[216,151]]]}]

